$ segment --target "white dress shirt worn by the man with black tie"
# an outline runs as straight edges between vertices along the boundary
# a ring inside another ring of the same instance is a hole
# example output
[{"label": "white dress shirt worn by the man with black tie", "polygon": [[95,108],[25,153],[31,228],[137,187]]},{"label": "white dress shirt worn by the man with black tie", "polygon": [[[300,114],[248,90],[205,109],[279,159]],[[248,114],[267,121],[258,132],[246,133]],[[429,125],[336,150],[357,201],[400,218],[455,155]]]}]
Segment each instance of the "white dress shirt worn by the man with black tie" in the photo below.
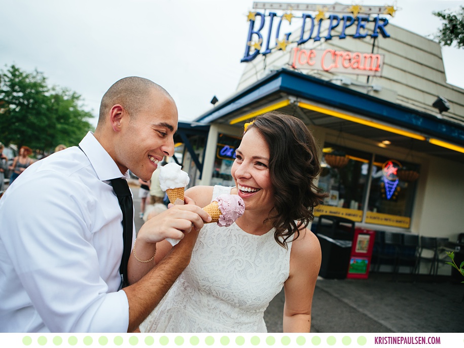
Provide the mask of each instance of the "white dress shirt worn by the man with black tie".
[{"label": "white dress shirt worn by the man with black tie", "polygon": [[123,175],[91,132],[80,147],[35,162],[0,200],[0,332],[127,331],[108,181]]}]

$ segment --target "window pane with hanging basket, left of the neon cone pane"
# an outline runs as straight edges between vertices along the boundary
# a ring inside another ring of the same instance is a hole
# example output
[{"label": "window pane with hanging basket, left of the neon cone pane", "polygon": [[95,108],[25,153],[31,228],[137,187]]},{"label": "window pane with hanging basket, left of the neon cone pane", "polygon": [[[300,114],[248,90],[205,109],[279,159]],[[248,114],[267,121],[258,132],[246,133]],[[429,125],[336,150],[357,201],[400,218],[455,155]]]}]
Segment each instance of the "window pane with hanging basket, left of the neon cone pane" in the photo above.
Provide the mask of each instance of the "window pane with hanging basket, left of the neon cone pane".
[{"label": "window pane with hanging basket, left of the neon cone pane", "polygon": [[326,143],[318,186],[329,193],[315,215],[329,214],[362,221],[371,154]]}]

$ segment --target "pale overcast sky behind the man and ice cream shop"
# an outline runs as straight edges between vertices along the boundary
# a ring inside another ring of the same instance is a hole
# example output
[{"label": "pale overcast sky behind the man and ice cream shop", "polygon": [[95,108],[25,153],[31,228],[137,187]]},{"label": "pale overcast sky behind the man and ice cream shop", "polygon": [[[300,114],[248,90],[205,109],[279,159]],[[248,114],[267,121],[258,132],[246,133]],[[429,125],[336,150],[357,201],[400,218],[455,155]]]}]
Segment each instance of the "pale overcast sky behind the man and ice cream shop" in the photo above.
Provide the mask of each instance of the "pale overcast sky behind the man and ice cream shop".
[{"label": "pale overcast sky behind the man and ice cream shop", "polygon": [[[427,37],[440,26],[433,11],[464,6],[438,0],[338,2],[395,5],[399,10],[390,23]],[[212,107],[213,95],[222,101],[236,92],[252,7],[251,0],[0,0],[0,67],[14,63],[43,72],[49,84],[81,94],[95,116],[114,82],[142,76],[164,87],[180,121],[190,121]],[[464,88],[464,49],[442,53],[448,83]]]}]

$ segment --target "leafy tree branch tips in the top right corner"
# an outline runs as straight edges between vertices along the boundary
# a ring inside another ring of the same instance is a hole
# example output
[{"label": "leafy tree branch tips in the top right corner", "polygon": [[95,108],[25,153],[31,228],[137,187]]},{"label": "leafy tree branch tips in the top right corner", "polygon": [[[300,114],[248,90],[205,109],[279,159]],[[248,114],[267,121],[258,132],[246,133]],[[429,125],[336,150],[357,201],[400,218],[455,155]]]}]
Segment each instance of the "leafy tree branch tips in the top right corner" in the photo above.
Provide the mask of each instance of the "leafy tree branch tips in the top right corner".
[{"label": "leafy tree branch tips in the top right corner", "polygon": [[435,38],[443,46],[455,43],[457,48],[464,47],[464,7],[456,12],[439,11],[433,14],[443,21],[442,27]]}]

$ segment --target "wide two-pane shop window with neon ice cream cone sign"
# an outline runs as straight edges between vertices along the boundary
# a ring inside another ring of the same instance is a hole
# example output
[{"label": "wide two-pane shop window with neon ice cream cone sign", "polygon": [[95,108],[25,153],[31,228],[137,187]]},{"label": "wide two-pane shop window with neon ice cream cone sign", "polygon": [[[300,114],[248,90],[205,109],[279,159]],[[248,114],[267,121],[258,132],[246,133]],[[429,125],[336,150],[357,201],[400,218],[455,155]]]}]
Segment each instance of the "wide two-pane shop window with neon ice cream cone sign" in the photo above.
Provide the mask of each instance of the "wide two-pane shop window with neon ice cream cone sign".
[{"label": "wide two-pane shop window with neon ice cream cone sign", "polygon": [[331,143],[318,186],[329,197],[314,215],[409,228],[419,165]]}]

